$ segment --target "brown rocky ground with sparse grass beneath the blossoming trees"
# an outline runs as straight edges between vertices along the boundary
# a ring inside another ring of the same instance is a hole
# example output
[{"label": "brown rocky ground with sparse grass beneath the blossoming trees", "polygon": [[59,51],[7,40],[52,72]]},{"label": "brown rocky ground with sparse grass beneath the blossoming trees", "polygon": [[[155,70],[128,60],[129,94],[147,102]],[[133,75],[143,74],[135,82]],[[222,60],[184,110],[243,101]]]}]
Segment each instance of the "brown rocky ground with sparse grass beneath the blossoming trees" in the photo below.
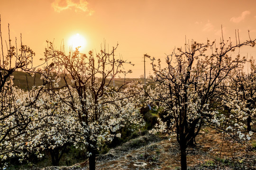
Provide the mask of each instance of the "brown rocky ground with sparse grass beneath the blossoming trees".
[{"label": "brown rocky ground with sparse grass beneath the blossoming trees", "polygon": [[[197,145],[187,149],[189,170],[256,170],[256,148],[233,144],[223,134],[205,127],[197,136]],[[255,138],[253,139],[255,140]],[[221,150],[221,155],[220,155]],[[220,159],[219,159],[220,156]],[[88,162],[71,167],[48,167],[44,170],[87,170]],[[99,155],[97,170],[179,170],[179,145],[174,136],[156,137],[143,134],[107,154]]]}]

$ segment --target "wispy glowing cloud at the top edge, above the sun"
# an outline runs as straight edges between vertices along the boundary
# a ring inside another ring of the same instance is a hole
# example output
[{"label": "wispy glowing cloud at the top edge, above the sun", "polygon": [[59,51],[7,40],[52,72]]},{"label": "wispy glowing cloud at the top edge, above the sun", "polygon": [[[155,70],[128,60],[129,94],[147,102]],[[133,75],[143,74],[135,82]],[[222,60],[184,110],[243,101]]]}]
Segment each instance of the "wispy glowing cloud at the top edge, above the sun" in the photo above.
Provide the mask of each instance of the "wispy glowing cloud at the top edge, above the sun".
[{"label": "wispy glowing cloud at the top edge, above the sun", "polygon": [[86,0],[54,0],[52,7],[56,12],[74,9],[75,12],[88,12],[91,15],[93,11],[88,9],[88,4]]}]

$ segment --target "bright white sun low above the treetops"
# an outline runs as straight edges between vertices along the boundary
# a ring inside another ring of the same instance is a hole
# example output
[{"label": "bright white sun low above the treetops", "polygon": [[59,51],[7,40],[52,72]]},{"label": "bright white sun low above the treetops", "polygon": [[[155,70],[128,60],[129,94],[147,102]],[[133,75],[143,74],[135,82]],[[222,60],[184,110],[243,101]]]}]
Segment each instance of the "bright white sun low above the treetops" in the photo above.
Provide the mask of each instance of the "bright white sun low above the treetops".
[{"label": "bright white sun low above the treetops", "polygon": [[69,40],[68,40],[68,45],[70,46],[70,48],[72,48],[73,50],[77,47],[80,47],[79,50],[83,50],[86,46],[87,42],[84,39],[84,37],[80,34],[75,34],[72,35]]}]

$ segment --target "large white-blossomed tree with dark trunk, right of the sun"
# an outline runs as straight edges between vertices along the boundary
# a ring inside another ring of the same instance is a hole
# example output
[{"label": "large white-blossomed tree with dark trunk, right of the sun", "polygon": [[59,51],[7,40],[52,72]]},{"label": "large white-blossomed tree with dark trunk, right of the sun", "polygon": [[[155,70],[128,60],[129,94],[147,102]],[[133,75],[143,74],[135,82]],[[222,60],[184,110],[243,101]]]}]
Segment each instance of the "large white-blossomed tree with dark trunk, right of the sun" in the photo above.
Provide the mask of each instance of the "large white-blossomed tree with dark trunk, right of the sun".
[{"label": "large white-blossomed tree with dark trunk, right of the sun", "polygon": [[[232,44],[222,41],[217,48],[216,42],[206,44],[192,41],[185,48],[166,57],[167,67],[161,67],[161,61],[152,60],[155,88],[148,88],[150,102],[165,110],[170,121],[159,120],[158,131],[175,132],[181,152],[181,169],[187,169],[186,148],[193,144],[201,125],[210,121],[216,114],[216,101],[221,93],[220,83],[244,59],[231,53],[241,46],[254,46],[256,40]],[[157,127],[156,126],[156,127]],[[156,130],[156,129],[155,129]],[[153,130],[154,132],[154,130]]]}]

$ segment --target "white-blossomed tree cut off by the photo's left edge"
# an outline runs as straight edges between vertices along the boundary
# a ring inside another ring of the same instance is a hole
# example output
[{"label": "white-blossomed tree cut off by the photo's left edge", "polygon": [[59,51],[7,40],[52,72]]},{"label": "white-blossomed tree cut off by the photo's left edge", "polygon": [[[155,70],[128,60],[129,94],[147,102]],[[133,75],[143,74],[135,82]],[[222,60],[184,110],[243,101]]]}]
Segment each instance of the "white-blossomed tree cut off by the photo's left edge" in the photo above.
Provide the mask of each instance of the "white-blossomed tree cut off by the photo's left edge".
[{"label": "white-blossomed tree cut off by the photo's left edge", "polygon": [[[25,93],[23,90],[13,87],[12,73],[18,69],[33,74],[35,67],[32,65],[35,52],[20,42],[20,48],[9,41],[4,47],[0,27],[1,52],[0,52],[0,161],[15,154],[21,154],[23,138],[27,133],[27,126],[31,123],[30,113],[23,110],[31,110],[32,105],[38,99],[38,93],[34,90]],[[21,39],[21,37],[20,37]],[[7,48],[7,51],[3,49]]]}]

